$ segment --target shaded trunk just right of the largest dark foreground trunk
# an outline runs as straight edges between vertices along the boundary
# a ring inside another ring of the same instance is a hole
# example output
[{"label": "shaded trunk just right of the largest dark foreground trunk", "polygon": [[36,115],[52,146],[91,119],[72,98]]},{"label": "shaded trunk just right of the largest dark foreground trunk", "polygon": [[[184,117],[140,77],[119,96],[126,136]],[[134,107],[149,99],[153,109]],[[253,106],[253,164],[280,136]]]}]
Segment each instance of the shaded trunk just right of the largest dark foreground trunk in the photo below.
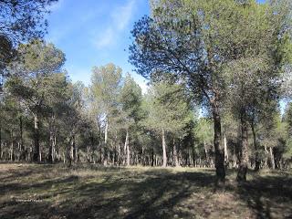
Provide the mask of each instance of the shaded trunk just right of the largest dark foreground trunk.
[{"label": "shaded trunk just right of the largest dark foreground trunk", "polygon": [[237,181],[245,182],[246,181],[246,172],[248,164],[248,130],[247,130],[247,120],[245,112],[241,116],[241,131],[242,131],[242,154],[239,162],[239,169],[237,172]]}]

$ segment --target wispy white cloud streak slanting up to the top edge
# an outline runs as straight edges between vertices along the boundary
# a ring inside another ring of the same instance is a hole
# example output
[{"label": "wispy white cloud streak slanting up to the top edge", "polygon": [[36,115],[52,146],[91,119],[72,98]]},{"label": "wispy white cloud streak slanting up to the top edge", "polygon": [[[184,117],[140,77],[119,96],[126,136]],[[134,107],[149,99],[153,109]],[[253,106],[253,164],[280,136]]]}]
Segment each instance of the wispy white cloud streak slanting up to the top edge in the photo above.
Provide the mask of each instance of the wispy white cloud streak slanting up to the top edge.
[{"label": "wispy white cloud streak slanting up to the top edge", "polygon": [[120,32],[122,32],[130,23],[130,18],[133,15],[135,0],[128,0],[126,5],[116,7],[110,14],[110,24],[107,29],[96,39],[94,44],[98,48],[108,47],[114,44]]}]

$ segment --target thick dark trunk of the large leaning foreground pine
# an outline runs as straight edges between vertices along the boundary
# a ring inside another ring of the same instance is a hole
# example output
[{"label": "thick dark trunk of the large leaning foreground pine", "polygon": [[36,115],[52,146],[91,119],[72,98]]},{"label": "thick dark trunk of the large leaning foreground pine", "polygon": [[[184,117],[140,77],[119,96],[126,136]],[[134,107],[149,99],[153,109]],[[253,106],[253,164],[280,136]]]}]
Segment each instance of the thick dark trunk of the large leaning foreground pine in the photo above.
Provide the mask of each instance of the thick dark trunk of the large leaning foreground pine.
[{"label": "thick dark trunk of the large leaning foreground pine", "polygon": [[221,118],[219,108],[216,104],[212,106],[213,120],[214,120],[214,149],[215,149],[215,168],[217,183],[224,183],[225,169],[224,169],[224,148],[222,147],[221,137]]}]

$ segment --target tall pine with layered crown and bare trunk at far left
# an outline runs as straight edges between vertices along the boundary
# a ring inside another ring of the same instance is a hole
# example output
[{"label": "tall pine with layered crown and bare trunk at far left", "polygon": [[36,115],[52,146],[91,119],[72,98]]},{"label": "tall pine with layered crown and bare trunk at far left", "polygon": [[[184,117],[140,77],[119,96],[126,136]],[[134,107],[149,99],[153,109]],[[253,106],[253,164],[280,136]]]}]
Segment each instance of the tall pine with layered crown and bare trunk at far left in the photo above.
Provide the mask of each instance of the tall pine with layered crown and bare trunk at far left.
[{"label": "tall pine with layered crown and bare trunk at far left", "polygon": [[50,96],[50,77],[59,73],[65,61],[65,55],[52,44],[41,41],[19,47],[24,59],[23,64],[17,64],[13,71],[21,76],[10,78],[7,82],[9,91],[21,99],[34,117],[34,156],[35,162],[40,161],[40,120],[46,106],[46,99]]}]

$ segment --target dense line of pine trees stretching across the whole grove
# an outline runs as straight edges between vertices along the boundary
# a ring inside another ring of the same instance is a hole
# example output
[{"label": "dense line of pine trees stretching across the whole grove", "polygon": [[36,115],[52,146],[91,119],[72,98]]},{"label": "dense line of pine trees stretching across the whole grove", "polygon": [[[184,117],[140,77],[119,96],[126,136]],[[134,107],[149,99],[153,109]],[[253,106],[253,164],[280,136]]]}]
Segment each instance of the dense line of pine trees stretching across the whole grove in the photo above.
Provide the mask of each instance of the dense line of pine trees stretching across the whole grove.
[{"label": "dense line of pine trees stretching across the whole grove", "polygon": [[289,168],[292,105],[281,115],[279,101],[291,91],[291,6],[151,1],[130,46],[145,94],[114,64],[85,86],[54,45],[17,44],[1,67],[0,160],[214,167],[218,182],[226,168],[240,182],[248,168]]}]

